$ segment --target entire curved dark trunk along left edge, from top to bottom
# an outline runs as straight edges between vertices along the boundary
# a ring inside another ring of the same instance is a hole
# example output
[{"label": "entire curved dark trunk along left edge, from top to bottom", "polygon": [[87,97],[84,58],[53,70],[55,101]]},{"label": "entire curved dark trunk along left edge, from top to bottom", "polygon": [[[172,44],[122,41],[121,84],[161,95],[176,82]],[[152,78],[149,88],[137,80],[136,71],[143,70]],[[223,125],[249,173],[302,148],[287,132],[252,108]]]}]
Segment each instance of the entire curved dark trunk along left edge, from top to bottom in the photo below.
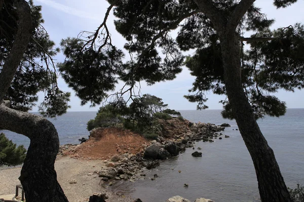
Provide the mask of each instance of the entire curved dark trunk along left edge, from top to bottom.
[{"label": "entire curved dark trunk along left edge, from top to bottom", "polygon": [[12,110],[3,103],[3,97],[11,85],[33,31],[28,4],[24,0],[15,0],[15,5],[19,17],[18,31],[0,73],[0,128],[23,134],[30,139],[19,177],[26,201],[68,201],[57,182],[54,169],[59,149],[54,125],[42,117]]}]

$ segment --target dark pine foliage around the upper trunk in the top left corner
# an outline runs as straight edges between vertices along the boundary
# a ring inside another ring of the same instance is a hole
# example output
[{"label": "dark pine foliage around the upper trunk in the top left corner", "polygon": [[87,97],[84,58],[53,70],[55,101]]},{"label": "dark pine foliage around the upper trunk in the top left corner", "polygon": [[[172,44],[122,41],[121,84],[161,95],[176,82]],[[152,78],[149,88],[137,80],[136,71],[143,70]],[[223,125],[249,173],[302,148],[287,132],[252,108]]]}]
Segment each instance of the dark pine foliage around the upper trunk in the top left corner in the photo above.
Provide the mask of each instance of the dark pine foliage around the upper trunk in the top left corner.
[{"label": "dark pine foliage around the upper trunk in the top left corner", "polygon": [[[4,0],[4,5],[0,14],[0,74],[18,30],[15,2]],[[57,85],[53,57],[56,56],[59,49],[54,47],[54,41],[50,39],[42,26],[44,23],[41,14],[42,7],[35,6],[32,0],[29,1],[29,6],[34,31],[4,99],[10,100],[12,109],[27,112],[36,105],[37,93],[43,91],[45,97],[39,105],[39,111],[45,116],[55,117],[64,114],[69,108],[67,102],[70,93],[63,92]]]}]

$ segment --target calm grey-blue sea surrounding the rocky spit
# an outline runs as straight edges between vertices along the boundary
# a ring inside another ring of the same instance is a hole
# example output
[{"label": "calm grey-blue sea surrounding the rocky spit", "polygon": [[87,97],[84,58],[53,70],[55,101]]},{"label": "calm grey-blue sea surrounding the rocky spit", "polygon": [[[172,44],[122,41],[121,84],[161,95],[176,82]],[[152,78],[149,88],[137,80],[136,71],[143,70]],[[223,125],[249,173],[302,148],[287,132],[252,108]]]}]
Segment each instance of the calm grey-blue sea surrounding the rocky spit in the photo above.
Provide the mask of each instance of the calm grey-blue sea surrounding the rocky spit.
[{"label": "calm grey-blue sea surrounding the rocky spit", "polygon": [[[221,117],[221,110],[184,110],[181,115],[192,122],[220,125],[228,123],[223,135],[230,138],[196,142],[195,150],[203,153],[201,158],[191,156],[194,149],[188,148],[175,159],[165,160],[155,169],[144,170],[145,179],[135,182],[118,181],[111,190],[140,198],[145,202],[166,201],[180,195],[191,201],[204,197],[215,202],[259,201],[258,185],[251,157],[241,134],[236,130],[235,120]],[[78,139],[88,137],[87,122],[96,112],[68,112],[50,119],[55,125],[60,144],[78,144]],[[273,148],[281,173],[288,187],[304,185],[304,109],[287,109],[280,118],[265,117],[258,125]],[[17,145],[29,145],[29,139],[10,131],[4,132]],[[178,172],[181,171],[181,172]],[[154,174],[159,177],[150,180]],[[188,187],[184,187],[188,184]]]}]

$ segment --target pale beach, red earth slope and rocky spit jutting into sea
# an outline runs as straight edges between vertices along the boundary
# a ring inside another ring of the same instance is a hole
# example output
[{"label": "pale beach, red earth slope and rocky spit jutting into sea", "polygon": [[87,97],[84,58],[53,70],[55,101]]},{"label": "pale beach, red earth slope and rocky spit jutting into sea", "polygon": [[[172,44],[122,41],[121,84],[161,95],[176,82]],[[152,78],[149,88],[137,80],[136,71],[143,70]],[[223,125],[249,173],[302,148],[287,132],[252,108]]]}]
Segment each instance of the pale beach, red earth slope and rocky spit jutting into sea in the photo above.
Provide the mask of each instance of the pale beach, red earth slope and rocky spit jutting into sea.
[{"label": "pale beach, red earth slope and rocky spit jutting into sea", "polygon": [[[213,142],[214,139],[222,139],[220,132],[225,128],[177,118],[159,122],[162,132],[154,140],[148,140],[123,128],[97,128],[93,129],[89,139],[81,144],[60,146],[55,168],[58,181],[69,201],[141,201],[113,193],[107,187],[119,180],[133,182],[146,179],[144,172],[147,169],[155,168],[162,161],[176,157],[187,147],[192,147],[195,151],[197,141]],[[197,149],[200,150],[199,147]],[[202,156],[199,151],[194,154],[194,157]],[[4,176],[2,179],[7,179],[9,183],[9,186],[0,187],[3,190],[0,195],[14,191],[14,186],[19,184],[19,175],[20,168],[0,171],[0,177]],[[14,180],[10,177],[14,177]],[[154,180],[156,177],[157,174],[147,180]],[[174,196],[167,201],[189,200]],[[212,200],[198,198],[195,201]]]}]

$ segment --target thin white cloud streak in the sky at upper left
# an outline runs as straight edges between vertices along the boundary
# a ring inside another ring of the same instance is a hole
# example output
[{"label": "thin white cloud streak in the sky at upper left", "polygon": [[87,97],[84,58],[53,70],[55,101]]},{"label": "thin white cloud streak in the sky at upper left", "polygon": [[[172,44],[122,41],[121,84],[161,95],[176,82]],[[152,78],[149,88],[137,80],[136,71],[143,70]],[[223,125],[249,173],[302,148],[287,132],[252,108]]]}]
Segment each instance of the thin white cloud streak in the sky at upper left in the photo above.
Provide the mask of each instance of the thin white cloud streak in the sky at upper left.
[{"label": "thin white cloud streak in the sky at upper left", "polygon": [[56,9],[58,11],[64,12],[64,13],[69,14],[69,15],[77,16],[77,17],[80,17],[80,18],[87,18],[87,19],[91,19],[91,20],[100,21],[100,18],[98,18],[96,15],[92,15],[90,13],[71,8],[69,6],[54,2],[52,0],[36,0],[36,2],[40,2],[42,4],[45,4],[45,5],[49,6],[49,7],[52,7],[53,9]]}]

